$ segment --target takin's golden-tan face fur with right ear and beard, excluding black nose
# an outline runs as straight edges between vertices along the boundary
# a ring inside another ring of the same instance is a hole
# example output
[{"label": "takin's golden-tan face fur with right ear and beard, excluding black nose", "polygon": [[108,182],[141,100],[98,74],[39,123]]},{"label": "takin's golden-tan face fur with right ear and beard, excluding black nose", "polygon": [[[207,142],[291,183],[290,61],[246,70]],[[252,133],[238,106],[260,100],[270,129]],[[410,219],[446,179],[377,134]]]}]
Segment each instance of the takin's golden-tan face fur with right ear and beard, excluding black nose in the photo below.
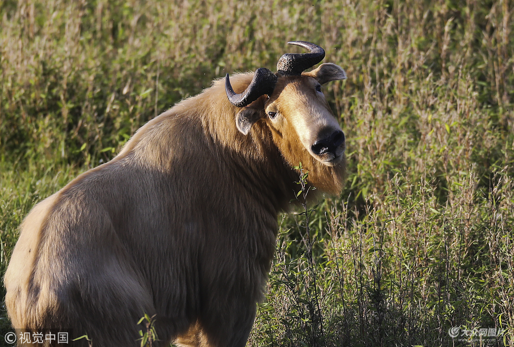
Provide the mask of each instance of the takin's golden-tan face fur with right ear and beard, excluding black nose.
[{"label": "takin's golden-tan face fur with right ear and beard, excluding black nose", "polygon": [[[316,91],[318,84],[345,79],[344,71],[335,64],[322,64],[301,76],[286,76],[266,102],[266,113],[278,112],[275,119],[267,119],[273,140],[290,166],[300,162],[309,172],[308,181],[331,194],[341,191],[345,175],[345,143],[338,148],[338,160],[327,163],[311,151],[320,137],[341,130],[325,97]],[[314,160],[313,160],[314,159]],[[328,168],[332,167],[332,168]]]}]

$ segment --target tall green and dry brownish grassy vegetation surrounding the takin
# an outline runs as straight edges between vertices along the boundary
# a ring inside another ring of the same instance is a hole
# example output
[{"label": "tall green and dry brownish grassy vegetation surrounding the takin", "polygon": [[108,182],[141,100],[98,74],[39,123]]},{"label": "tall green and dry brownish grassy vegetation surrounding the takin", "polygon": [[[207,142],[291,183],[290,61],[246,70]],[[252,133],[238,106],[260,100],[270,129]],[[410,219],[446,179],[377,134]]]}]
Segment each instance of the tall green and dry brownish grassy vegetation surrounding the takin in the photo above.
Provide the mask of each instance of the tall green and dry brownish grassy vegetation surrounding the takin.
[{"label": "tall green and dry brownish grassy vegetation surrounding the takin", "polygon": [[0,0],[0,18],[2,276],[36,202],[305,40],[348,74],[324,92],[350,177],[281,217],[249,345],[514,345],[512,1]]}]

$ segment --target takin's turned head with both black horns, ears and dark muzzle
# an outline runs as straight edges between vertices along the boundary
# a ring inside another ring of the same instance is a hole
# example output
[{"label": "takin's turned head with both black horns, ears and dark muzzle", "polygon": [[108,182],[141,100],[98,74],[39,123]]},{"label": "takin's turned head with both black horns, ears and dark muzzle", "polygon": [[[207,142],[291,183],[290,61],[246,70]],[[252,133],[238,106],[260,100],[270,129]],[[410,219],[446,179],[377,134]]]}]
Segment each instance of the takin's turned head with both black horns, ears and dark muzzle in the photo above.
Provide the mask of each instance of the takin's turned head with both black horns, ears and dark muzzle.
[{"label": "takin's turned head with both black horns, ears and dark muzzle", "polygon": [[[277,64],[277,73],[266,68],[256,70],[252,82],[240,94],[233,91],[227,74],[227,97],[234,106],[241,107],[235,119],[237,129],[246,135],[255,122],[264,118],[273,142],[289,165],[302,162],[309,171],[320,171],[323,166],[344,171],[344,133],[325,100],[321,86],[346,79],[346,73],[332,63],[303,72],[320,63],[325,51],[304,41],[288,44],[309,49],[310,53],[284,54]],[[312,165],[308,165],[309,162]],[[324,185],[322,182],[311,183]]]}]

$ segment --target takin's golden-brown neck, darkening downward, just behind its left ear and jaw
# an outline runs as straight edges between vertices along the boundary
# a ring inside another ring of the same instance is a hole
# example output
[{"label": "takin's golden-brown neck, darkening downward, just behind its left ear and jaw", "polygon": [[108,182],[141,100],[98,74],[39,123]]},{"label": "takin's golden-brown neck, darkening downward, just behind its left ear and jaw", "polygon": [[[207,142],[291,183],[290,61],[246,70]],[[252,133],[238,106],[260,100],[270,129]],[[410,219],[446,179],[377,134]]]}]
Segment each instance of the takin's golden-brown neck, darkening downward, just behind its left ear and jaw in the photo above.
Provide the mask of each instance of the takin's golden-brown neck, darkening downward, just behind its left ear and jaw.
[{"label": "takin's golden-brown neck, darkening downward, just behind its left ear and jaw", "polygon": [[[226,100],[225,90],[223,96]],[[290,209],[289,201],[298,189],[298,173],[273,143],[264,120],[253,124],[244,135],[237,130],[236,112],[227,101],[204,115],[202,126],[211,150],[225,161],[226,175],[244,185],[254,199],[267,207],[272,205],[274,213]]]}]

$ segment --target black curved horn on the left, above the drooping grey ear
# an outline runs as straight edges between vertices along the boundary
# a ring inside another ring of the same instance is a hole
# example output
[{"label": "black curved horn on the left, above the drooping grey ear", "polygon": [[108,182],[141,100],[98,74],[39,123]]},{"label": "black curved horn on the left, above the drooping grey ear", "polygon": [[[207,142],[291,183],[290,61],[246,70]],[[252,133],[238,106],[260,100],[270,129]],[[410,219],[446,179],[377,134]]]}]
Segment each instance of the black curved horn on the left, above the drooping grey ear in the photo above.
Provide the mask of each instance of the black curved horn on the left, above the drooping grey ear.
[{"label": "black curved horn on the left, above the drooping grey ear", "polygon": [[270,96],[273,93],[273,89],[275,89],[276,83],[277,76],[265,67],[261,67],[255,70],[252,82],[250,82],[246,90],[241,94],[236,94],[234,92],[227,73],[227,76],[225,77],[225,91],[227,92],[228,100],[232,105],[245,107],[259,99],[264,94]]}]

